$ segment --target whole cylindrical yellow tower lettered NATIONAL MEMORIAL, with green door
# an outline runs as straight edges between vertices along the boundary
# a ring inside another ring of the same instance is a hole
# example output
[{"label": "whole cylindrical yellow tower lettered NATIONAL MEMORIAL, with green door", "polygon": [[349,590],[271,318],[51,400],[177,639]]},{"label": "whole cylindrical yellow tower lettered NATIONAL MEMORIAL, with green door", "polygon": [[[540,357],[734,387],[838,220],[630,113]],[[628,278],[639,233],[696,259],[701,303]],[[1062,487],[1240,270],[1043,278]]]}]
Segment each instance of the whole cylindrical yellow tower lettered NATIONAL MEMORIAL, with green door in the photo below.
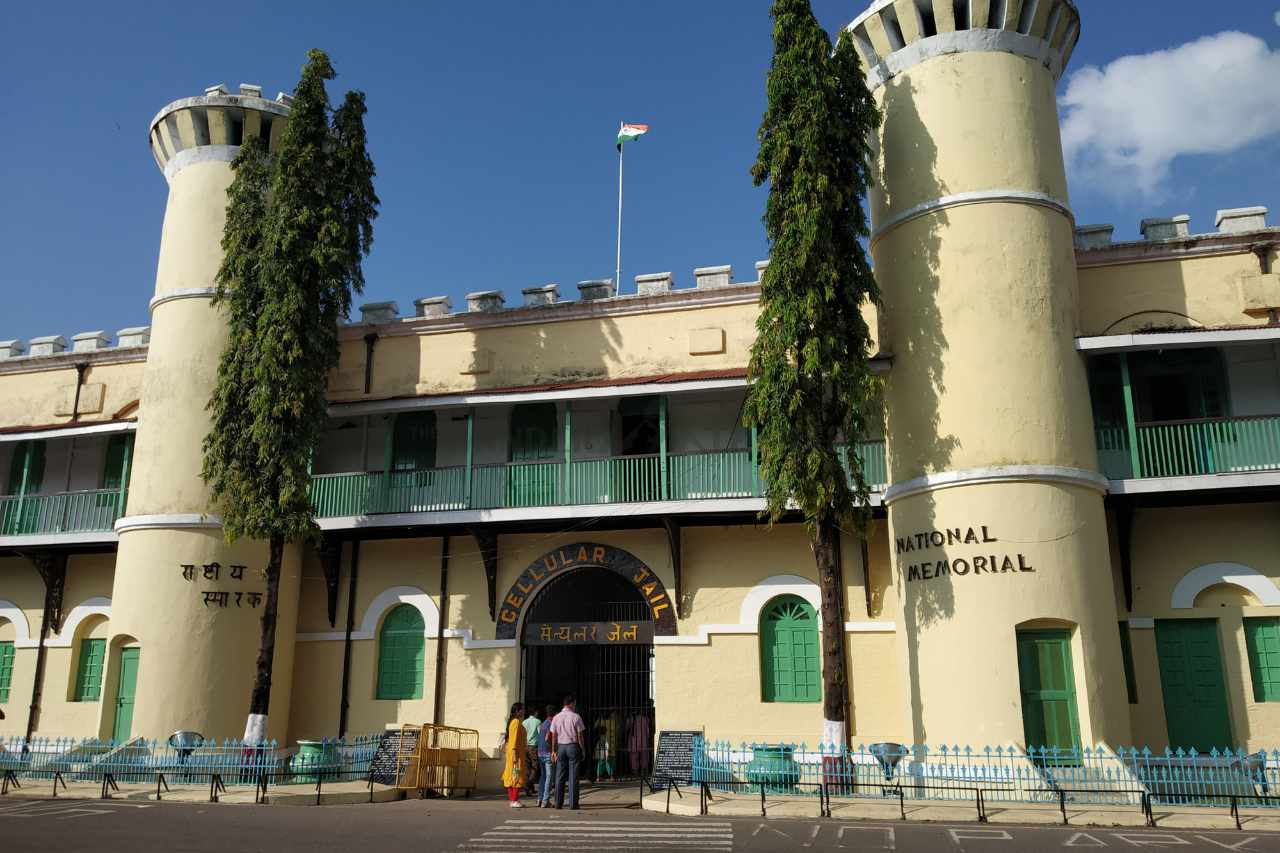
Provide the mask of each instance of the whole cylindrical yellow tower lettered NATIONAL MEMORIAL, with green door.
[{"label": "whole cylindrical yellow tower lettered NATIONAL MEMORIAL, with green door", "polygon": [[1126,743],[1106,480],[1075,351],[1055,86],[1069,0],[877,0],[884,502],[920,743]]}]

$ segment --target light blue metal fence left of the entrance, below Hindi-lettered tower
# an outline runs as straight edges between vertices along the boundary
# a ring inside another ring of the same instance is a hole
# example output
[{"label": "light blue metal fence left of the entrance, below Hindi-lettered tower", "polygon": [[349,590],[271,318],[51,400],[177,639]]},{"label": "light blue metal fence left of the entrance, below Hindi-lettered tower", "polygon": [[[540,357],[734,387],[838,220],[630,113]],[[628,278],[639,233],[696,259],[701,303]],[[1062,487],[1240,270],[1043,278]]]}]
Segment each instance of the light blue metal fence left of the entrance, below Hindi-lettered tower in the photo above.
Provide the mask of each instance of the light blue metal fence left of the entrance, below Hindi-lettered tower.
[{"label": "light blue metal fence left of the entrance, below Hindi-lettered tower", "polygon": [[224,785],[315,784],[364,780],[378,751],[379,735],[321,740],[310,752],[280,749],[273,740],[207,742],[175,748],[165,742],[134,738],[122,743],[93,738],[0,739],[0,772],[19,779],[116,783],[209,784],[218,776]]}]

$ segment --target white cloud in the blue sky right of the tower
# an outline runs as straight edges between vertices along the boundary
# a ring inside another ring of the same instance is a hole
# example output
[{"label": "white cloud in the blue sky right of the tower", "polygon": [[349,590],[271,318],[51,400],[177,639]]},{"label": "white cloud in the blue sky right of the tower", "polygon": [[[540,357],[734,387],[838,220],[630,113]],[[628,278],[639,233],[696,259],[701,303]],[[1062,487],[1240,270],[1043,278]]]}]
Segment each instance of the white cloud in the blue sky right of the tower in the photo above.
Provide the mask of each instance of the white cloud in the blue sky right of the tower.
[{"label": "white cloud in the blue sky right of the tower", "polygon": [[1181,155],[1280,133],[1276,81],[1280,50],[1243,32],[1083,68],[1059,99],[1068,168],[1116,195],[1156,195]]}]

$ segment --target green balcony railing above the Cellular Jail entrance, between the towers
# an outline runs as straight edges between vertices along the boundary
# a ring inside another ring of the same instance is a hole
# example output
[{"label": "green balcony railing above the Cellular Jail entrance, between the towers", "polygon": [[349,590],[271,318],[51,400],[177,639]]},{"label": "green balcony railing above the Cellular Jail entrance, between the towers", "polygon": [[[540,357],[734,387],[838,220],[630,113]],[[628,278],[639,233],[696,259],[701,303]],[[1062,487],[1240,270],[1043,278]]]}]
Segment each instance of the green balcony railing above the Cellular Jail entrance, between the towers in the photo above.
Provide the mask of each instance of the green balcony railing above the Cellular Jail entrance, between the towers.
[{"label": "green balcony railing above the Cellular Jail entrance, between the towers", "polygon": [[[858,448],[869,483],[884,483],[884,443]],[[666,466],[663,465],[666,462]],[[421,471],[319,474],[316,516],[443,512],[540,506],[643,503],[753,497],[760,493],[750,451],[506,462]]]}]

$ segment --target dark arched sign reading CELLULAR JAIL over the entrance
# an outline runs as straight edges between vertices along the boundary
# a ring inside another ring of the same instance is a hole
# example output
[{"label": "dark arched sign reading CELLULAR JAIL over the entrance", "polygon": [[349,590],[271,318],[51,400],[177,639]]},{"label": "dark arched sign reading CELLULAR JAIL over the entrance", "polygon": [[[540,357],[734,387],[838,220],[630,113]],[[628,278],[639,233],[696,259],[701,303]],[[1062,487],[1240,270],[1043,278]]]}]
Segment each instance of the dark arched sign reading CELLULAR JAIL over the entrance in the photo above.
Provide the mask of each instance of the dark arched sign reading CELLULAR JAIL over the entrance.
[{"label": "dark arched sign reading CELLULAR JAIL over the entrance", "polygon": [[[635,555],[622,548],[613,548],[594,542],[580,542],[547,552],[529,564],[529,567],[520,574],[520,578],[516,579],[516,583],[511,585],[507,596],[502,599],[502,608],[498,611],[497,638],[516,639],[516,625],[520,624],[520,616],[529,606],[529,602],[534,599],[538,590],[552,578],[568,571],[577,571],[579,569],[605,569],[627,580],[649,606],[649,613],[653,616],[653,635],[675,637],[676,608],[667,594],[667,587],[658,575],[649,566],[640,562]],[[607,637],[612,630],[612,625],[603,628]],[[648,633],[648,629],[645,630]],[[627,642],[636,640],[631,639]]]}]

